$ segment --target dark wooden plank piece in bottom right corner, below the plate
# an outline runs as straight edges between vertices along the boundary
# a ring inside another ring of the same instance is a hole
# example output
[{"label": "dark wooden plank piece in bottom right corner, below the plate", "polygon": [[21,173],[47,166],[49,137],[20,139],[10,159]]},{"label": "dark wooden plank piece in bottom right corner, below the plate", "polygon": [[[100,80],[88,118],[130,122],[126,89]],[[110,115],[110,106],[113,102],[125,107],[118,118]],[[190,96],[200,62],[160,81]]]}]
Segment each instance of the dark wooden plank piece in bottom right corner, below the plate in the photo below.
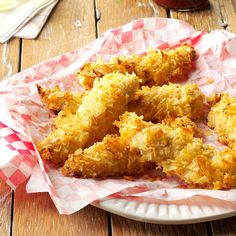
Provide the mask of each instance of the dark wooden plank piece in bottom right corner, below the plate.
[{"label": "dark wooden plank piece in bottom right corner, below the plate", "polygon": [[216,220],[211,223],[213,235],[235,236],[236,235],[236,216],[225,220]]}]

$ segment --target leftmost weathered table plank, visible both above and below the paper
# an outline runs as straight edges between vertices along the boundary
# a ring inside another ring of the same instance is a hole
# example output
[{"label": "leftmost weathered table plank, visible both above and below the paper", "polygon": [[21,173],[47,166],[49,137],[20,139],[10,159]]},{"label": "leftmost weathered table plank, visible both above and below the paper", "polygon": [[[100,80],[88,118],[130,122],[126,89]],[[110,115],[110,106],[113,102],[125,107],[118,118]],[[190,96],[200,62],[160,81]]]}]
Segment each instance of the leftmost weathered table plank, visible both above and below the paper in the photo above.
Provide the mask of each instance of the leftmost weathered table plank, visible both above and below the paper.
[{"label": "leftmost weathered table plank, visible both above and below the paper", "polygon": [[[0,44],[0,80],[17,72],[18,56],[18,39]],[[0,180],[0,235],[10,235],[11,205],[12,191],[2,180]]]}]

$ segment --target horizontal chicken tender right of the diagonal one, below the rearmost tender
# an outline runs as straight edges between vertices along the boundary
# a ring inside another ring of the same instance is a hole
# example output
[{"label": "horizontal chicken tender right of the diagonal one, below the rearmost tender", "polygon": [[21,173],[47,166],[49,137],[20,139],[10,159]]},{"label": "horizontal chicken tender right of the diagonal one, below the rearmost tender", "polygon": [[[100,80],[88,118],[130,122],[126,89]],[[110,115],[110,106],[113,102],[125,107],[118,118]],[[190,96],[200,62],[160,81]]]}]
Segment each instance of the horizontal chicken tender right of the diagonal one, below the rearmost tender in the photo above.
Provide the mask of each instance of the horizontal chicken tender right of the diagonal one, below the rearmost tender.
[{"label": "horizontal chicken tender right of the diagonal one, below the rearmost tender", "polygon": [[142,87],[129,111],[143,116],[146,121],[187,116],[202,118],[206,98],[196,84],[169,84],[162,87]]}]

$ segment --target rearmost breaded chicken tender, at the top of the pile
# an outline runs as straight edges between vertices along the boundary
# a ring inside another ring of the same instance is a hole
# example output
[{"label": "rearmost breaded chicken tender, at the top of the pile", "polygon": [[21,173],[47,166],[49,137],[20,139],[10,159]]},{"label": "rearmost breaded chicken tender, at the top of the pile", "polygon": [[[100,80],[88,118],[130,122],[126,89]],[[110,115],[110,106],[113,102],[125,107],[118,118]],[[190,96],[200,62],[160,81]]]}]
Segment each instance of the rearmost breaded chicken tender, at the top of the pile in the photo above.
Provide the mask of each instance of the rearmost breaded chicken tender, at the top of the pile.
[{"label": "rearmost breaded chicken tender, at the top of the pile", "polygon": [[93,87],[96,78],[105,74],[135,73],[141,85],[159,86],[186,76],[195,58],[194,48],[182,45],[174,49],[150,51],[147,55],[121,56],[109,63],[87,63],[76,72],[80,84],[87,89]]}]

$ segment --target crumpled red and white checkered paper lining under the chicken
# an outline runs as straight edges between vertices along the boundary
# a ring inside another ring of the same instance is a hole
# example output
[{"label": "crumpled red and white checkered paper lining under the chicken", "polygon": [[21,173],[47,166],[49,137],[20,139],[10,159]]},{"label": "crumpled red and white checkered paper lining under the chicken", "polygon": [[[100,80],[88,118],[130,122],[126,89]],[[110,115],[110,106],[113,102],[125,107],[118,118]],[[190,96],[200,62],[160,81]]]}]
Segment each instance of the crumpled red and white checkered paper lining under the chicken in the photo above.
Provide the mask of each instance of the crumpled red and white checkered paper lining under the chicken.
[{"label": "crumpled red and white checkered paper lining under the chicken", "polygon": [[[197,51],[196,68],[187,82],[201,90],[230,92],[236,95],[236,36],[226,31],[209,34],[195,32],[187,23],[174,19],[144,18],[101,35],[88,46],[36,65],[0,83],[0,177],[16,188],[28,176],[28,192],[49,192],[60,213],[71,214],[95,200],[113,197],[139,197],[178,200],[195,195],[210,196],[235,204],[236,189],[230,191],[178,188],[173,179],[149,182],[124,179],[76,179],[64,177],[58,169],[46,165],[34,149],[34,142],[50,130],[53,114],[43,107],[35,84],[79,90],[73,75],[86,61],[98,57],[145,53],[149,48],[165,49],[182,43]],[[209,82],[211,81],[211,82]],[[222,147],[212,135],[207,142]],[[122,191],[123,190],[123,191]],[[119,194],[115,194],[121,191]]]}]

